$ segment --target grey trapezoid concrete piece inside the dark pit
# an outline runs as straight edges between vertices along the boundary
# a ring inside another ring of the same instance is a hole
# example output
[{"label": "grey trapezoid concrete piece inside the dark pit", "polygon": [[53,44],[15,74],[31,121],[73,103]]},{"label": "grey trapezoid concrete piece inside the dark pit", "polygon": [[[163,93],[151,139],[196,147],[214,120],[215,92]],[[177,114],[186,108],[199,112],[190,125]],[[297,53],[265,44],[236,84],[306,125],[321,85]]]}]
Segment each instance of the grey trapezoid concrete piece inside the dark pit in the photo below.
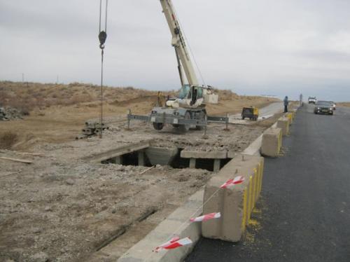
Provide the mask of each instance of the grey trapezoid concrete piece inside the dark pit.
[{"label": "grey trapezoid concrete piece inside the dark pit", "polygon": [[179,149],[176,147],[166,148],[158,146],[150,146],[145,151],[151,165],[170,165],[178,152]]}]

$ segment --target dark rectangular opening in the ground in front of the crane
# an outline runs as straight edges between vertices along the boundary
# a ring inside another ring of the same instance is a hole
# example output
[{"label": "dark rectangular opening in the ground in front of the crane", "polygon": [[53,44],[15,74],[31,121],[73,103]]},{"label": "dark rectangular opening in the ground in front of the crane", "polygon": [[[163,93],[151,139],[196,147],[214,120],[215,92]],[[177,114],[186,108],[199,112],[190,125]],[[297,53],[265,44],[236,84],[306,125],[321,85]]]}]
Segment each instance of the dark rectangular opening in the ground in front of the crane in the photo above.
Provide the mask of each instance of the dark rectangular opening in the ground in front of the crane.
[{"label": "dark rectangular opening in the ground in front of the crane", "polygon": [[[119,164],[119,165],[134,165],[134,166],[144,166],[152,167],[153,165],[169,165],[176,169],[183,169],[190,167],[190,158],[181,158],[181,151],[183,149],[177,149],[176,153],[171,156],[167,156],[167,152],[161,148],[152,148],[151,151],[146,151],[144,149],[139,151],[133,151],[130,153],[125,153],[122,156],[116,156],[103,160],[102,164]],[[195,168],[214,171],[214,158],[196,158]],[[224,167],[230,158],[220,160],[220,168]]]}]

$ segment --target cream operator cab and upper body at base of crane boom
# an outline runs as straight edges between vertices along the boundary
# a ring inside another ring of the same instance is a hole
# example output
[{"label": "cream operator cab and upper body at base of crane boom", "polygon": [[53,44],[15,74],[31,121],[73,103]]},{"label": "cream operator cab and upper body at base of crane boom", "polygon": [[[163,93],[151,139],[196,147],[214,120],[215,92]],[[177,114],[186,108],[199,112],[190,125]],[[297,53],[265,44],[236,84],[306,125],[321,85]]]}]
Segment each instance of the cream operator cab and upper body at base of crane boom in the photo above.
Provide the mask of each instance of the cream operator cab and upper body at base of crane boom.
[{"label": "cream operator cab and upper body at base of crane boom", "polygon": [[204,92],[202,86],[183,85],[179,97],[167,101],[167,106],[172,108],[197,108],[204,106]]}]

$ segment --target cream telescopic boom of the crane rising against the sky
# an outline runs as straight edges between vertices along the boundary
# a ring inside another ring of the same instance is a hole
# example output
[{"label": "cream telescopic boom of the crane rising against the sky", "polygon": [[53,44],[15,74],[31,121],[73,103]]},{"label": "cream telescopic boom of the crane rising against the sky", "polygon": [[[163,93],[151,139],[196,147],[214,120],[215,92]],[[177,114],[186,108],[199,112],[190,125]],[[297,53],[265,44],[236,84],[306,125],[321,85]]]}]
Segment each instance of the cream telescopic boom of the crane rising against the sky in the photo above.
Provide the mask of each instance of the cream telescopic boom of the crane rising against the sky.
[{"label": "cream telescopic boom of the crane rising against the sky", "polygon": [[172,33],[172,46],[174,46],[176,54],[179,55],[179,60],[183,66],[183,71],[185,71],[187,81],[190,85],[199,85],[195,69],[190,60],[186,41],[181,32],[179,21],[176,18],[172,0],[160,0],[160,4],[162,4],[163,13]]}]

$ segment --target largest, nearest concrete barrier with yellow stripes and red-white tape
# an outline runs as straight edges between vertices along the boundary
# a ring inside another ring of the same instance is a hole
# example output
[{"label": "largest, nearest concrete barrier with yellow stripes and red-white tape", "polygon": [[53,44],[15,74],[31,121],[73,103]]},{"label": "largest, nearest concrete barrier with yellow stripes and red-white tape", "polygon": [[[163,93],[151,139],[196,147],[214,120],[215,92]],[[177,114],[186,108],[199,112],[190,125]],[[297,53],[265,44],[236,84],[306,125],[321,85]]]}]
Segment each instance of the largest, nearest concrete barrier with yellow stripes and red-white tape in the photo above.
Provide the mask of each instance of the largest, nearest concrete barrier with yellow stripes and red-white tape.
[{"label": "largest, nearest concrete barrier with yellow stripes and red-white tape", "polygon": [[[238,242],[244,235],[262,188],[264,158],[239,154],[213,177],[204,190],[203,214],[221,212],[221,219],[202,223],[204,237]],[[221,185],[237,176],[243,184],[229,188]]]}]

